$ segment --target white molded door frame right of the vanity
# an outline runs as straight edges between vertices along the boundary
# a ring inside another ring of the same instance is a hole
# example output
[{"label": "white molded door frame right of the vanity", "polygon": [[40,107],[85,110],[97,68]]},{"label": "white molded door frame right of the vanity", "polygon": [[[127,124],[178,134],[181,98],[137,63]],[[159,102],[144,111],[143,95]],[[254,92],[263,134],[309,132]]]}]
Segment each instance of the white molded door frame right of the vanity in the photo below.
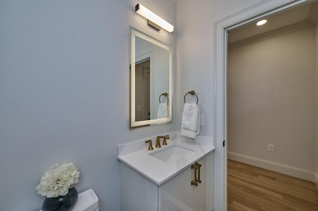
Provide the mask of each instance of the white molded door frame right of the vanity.
[{"label": "white molded door frame right of the vanity", "polygon": [[[263,0],[214,23],[214,211],[227,211],[227,32],[315,0]],[[225,141],[225,147],[223,147]]]}]

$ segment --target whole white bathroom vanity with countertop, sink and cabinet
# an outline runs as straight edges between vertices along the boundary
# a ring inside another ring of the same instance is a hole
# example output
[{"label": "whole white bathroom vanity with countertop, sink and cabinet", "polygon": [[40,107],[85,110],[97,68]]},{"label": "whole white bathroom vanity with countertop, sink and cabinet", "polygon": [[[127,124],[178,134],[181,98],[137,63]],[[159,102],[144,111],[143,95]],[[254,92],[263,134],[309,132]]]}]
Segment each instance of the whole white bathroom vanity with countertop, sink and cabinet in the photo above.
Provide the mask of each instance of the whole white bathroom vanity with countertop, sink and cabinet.
[{"label": "whole white bathroom vanity with countertop, sink and cabinet", "polygon": [[121,211],[213,210],[212,138],[170,137],[152,151],[145,140],[118,146]]}]

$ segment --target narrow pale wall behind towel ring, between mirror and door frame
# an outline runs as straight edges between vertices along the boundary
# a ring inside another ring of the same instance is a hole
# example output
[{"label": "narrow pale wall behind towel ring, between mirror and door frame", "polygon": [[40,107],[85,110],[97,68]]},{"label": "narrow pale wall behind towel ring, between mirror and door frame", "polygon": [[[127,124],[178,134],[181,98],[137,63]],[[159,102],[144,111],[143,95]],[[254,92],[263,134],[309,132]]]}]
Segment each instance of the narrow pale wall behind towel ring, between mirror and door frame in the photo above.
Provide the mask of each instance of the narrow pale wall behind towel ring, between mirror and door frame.
[{"label": "narrow pale wall behind towel ring, between mirror and door frame", "polygon": [[[214,23],[261,0],[180,0],[177,3],[177,113],[184,94],[194,90],[205,126],[201,135],[214,135]],[[187,102],[195,97],[187,95]],[[179,122],[179,120],[178,120]],[[178,123],[177,128],[180,128]]]}]

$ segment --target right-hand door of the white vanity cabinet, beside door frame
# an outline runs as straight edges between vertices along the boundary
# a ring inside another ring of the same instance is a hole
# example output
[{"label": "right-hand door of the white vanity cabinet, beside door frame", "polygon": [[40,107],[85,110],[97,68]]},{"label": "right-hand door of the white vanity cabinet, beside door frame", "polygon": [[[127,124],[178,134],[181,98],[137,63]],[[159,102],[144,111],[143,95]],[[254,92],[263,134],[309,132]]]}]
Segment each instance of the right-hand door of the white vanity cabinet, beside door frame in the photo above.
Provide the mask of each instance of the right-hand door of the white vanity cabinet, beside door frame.
[{"label": "right-hand door of the white vanity cabinet, beside door frame", "polygon": [[[198,161],[200,167],[201,183],[194,186],[194,210],[212,211],[213,210],[213,154]],[[198,177],[198,175],[197,175]]]}]

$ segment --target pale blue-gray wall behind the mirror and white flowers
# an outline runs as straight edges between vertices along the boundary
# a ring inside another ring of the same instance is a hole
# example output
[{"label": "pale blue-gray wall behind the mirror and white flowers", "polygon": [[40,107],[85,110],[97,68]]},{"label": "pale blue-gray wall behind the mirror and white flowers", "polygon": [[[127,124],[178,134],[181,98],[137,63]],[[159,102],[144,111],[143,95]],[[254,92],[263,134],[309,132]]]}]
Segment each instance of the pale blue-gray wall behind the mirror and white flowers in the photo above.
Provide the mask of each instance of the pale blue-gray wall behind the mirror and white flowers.
[{"label": "pale blue-gray wall behind the mirror and white flowers", "polygon": [[137,3],[176,25],[171,0],[0,0],[0,211],[40,210],[35,187],[63,162],[118,211],[117,145],[176,130],[129,129],[129,25],[176,49]]}]

